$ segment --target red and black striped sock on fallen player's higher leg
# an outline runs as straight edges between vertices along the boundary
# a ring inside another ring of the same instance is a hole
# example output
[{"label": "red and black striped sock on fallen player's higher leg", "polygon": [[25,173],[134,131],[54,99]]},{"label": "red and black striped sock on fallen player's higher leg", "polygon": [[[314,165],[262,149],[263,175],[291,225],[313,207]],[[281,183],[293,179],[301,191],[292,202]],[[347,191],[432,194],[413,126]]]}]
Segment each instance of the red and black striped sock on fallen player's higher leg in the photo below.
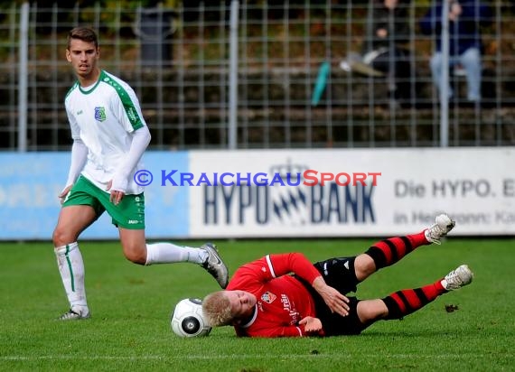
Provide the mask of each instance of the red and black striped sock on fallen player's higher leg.
[{"label": "red and black striped sock on fallen player's higher leg", "polygon": [[418,246],[427,244],[429,243],[424,235],[424,231],[422,231],[421,233],[407,235],[406,237],[390,237],[381,240],[370,246],[365,254],[372,257],[376,264],[376,269],[379,270],[382,267],[395,264]]}]

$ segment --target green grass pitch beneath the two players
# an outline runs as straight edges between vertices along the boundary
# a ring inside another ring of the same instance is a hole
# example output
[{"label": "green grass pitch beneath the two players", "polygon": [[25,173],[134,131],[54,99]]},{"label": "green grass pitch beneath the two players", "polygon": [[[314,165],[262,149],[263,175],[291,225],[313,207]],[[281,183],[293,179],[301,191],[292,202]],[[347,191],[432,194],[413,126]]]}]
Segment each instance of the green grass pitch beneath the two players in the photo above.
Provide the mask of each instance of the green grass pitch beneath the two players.
[{"label": "green grass pitch beneath the two players", "polygon": [[[234,270],[267,253],[299,251],[313,261],[353,256],[375,240],[215,243]],[[170,329],[173,305],[216,291],[211,275],[191,264],[131,264],[117,242],[84,241],[80,249],[92,318],[60,322],[68,304],[52,243],[0,244],[0,370],[515,370],[515,238],[449,237],[418,248],[360,284],[358,297],[429,284],[463,263],[474,271],[473,284],[402,321],[326,339],[237,339],[229,327],[181,339]],[[458,310],[446,312],[445,304]]]}]

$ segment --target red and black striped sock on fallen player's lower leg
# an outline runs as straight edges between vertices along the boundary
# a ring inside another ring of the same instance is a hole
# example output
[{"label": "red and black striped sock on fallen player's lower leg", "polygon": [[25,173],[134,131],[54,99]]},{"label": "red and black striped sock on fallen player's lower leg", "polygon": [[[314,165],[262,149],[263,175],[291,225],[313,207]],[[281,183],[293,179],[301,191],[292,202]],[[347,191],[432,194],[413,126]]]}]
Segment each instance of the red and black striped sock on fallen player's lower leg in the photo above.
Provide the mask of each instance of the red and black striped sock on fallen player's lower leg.
[{"label": "red and black striped sock on fallen player's lower leg", "polygon": [[417,312],[439,295],[446,293],[441,281],[442,279],[438,279],[434,284],[428,284],[422,288],[405,289],[383,298],[382,301],[385,302],[389,312],[385,319],[401,319],[412,312]]}]

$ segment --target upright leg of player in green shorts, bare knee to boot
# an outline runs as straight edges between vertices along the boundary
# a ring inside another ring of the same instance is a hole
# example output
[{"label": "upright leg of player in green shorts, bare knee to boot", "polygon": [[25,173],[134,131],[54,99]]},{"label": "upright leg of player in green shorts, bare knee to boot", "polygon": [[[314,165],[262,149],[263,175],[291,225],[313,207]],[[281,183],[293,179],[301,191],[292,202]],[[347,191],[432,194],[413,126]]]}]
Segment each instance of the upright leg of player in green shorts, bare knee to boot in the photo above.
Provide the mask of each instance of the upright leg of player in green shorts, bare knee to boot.
[{"label": "upright leg of player in green shorts, bare knee to boot", "polygon": [[84,262],[77,239],[97,215],[87,205],[72,205],[61,209],[52,240],[62,284],[70,302],[70,310],[59,318],[61,321],[88,319],[89,308],[84,285]]}]

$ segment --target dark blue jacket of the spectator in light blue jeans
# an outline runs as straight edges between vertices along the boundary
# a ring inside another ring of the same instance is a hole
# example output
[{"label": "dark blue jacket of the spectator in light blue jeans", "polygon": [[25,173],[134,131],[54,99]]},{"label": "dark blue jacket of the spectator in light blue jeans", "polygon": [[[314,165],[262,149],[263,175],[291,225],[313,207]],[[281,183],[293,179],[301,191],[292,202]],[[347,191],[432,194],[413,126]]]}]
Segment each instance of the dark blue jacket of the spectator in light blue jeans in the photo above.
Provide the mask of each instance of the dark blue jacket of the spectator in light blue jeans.
[{"label": "dark blue jacket of the spectator in light blue jeans", "polygon": [[[492,11],[480,1],[461,1],[462,14],[449,21],[449,54],[460,55],[469,48],[482,50],[480,26],[491,23]],[[435,34],[436,51],[442,51],[442,2],[433,5],[420,20],[420,31]]]}]

